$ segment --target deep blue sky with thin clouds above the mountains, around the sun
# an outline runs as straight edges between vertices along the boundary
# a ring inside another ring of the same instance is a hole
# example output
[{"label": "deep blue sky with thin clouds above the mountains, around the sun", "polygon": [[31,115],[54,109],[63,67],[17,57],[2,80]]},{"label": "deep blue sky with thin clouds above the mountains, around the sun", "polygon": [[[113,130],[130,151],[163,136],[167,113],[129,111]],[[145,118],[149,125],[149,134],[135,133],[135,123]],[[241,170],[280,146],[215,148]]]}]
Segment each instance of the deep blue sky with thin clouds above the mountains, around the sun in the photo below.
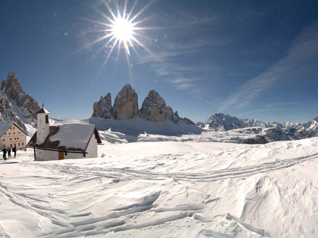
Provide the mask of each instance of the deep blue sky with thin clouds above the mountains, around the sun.
[{"label": "deep blue sky with thin clouds above the mountains, around the sun", "polygon": [[[138,0],[133,15],[149,2]],[[139,107],[155,89],[193,121],[215,113],[293,122],[318,116],[317,1],[155,0],[136,20],[155,27],[138,39],[156,57],[136,45],[131,75],[123,49],[102,69],[110,51],[96,54],[103,42],[78,51],[102,34],[102,25],[82,19],[105,22],[96,9],[110,16],[101,0],[3,2],[1,80],[14,71],[24,91],[59,119],[89,118],[93,102],[108,92],[114,102],[126,83]]]}]

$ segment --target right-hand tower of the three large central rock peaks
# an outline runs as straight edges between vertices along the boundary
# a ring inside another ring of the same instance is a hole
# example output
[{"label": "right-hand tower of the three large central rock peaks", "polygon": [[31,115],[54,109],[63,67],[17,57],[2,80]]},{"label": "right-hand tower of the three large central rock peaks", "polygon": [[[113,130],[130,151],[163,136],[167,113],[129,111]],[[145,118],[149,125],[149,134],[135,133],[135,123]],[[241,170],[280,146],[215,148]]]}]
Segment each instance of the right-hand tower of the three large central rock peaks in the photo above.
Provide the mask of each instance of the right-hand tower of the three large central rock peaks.
[{"label": "right-hand tower of the three large central rock peaks", "polygon": [[157,91],[149,92],[140,109],[140,116],[150,121],[165,121],[165,102]]}]

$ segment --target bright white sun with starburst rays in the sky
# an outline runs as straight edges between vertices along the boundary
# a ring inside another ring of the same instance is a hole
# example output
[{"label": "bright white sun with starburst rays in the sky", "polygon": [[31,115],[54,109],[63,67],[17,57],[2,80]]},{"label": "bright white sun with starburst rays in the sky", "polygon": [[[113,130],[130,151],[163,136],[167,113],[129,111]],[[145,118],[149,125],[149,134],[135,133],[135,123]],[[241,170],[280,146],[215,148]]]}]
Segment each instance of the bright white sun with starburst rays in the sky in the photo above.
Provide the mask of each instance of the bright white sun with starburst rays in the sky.
[{"label": "bright white sun with starburst rays in the sky", "polygon": [[[110,58],[110,56],[115,48],[118,49],[117,61],[118,61],[118,56],[119,56],[120,50],[121,49],[125,50],[126,59],[127,59],[130,74],[131,74],[131,68],[130,68],[131,63],[129,60],[130,49],[132,49],[136,53],[136,55],[139,56],[139,54],[136,50],[136,46],[140,46],[140,48],[144,49],[145,51],[147,51],[147,53],[149,53],[154,58],[159,60],[159,58],[149,48],[147,48],[140,40],[140,38],[145,38],[145,39],[150,39],[150,38],[145,36],[145,35],[142,35],[138,32],[140,30],[159,29],[159,27],[141,27],[140,26],[141,23],[145,22],[147,19],[151,18],[152,16],[148,16],[148,17],[141,19],[141,20],[138,20],[138,21],[136,20],[141,15],[141,13],[144,12],[145,9],[147,9],[148,6],[154,2],[154,0],[151,0],[148,4],[146,4],[136,14],[133,14],[133,10],[137,4],[137,0],[134,2],[130,11],[127,10],[127,1],[128,0],[125,0],[125,3],[123,6],[120,6],[118,4],[117,0],[113,1],[113,3],[116,3],[115,4],[116,9],[113,10],[106,0],[102,0],[102,2],[104,3],[104,6],[106,6],[106,8],[107,8],[107,11],[104,12],[104,11],[101,11],[97,8],[95,8],[95,11],[97,13],[99,13],[101,16],[103,16],[104,21],[95,21],[92,19],[79,17],[81,19],[84,19],[84,20],[87,20],[90,22],[94,22],[94,23],[97,23],[98,25],[100,25],[101,29],[93,31],[93,32],[95,32],[95,33],[96,32],[98,32],[98,33],[104,32],[104,35],[102,35],[102,36],[98,35],[96,40],[81,47],[77,51],[80,51],[84,48],[90,47],[90,46],[92,46],[98,42],[102,42],[102,41],[104,41],[105,43],[102,45],[102,47],[99,50],[97,50],[95,55],[98,54],[99,52],[101,52],[105,48],[110,49],[108,54],[105,56],[105,60],[100,68],[99,74],[102,71],[107,60]],[[109,2],[112,2],[112,1],[109,1]],[[117,16],[115,15],[114,12],[117,12]],[[159,61],[161,61],[161,60],[159,60]],[[131,76],[132,76],[132,74],[131,74]]]}]

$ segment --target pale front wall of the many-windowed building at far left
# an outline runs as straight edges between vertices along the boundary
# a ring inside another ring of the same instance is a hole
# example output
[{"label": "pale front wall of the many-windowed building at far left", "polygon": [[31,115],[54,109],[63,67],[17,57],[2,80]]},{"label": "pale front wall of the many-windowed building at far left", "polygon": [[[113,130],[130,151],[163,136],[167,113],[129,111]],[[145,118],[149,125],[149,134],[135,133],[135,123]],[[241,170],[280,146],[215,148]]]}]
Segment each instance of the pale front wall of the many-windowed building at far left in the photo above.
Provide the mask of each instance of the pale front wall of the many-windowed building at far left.
[{"label": "pale front wall of the many-windowed building at far left", "polygon": [[12,124],[0,137],[0,141],[1,148],[4,146],[5,148],[13,148],[15,145],[17,149],[21,149],[26,146],[26,135],[22,132],[22,130]]}]

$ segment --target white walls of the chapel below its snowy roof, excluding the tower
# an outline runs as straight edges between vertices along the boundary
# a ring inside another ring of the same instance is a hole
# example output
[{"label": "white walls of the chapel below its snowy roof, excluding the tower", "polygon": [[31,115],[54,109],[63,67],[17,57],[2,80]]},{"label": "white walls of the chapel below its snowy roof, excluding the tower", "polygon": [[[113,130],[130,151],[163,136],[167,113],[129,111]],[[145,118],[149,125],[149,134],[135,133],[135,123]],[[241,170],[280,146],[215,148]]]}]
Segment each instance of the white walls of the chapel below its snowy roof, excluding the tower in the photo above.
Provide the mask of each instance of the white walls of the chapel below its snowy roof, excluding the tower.
[{"label": "white walls of the chapel below its snowy roof, excluding the tower", "polygon": [[[85,158],[97,158],[97,140],[95,139],[94,134],[90,138],[88,142],[88,146],[86,149],[86,156],[84,157],[82,153],[70,153],[64,155],[64,159],[85,159]],[[58,151],[50,151],[50,150],[36,150],[36,159],[49,161],[49,160],[59,160],[59,152]]]}]

